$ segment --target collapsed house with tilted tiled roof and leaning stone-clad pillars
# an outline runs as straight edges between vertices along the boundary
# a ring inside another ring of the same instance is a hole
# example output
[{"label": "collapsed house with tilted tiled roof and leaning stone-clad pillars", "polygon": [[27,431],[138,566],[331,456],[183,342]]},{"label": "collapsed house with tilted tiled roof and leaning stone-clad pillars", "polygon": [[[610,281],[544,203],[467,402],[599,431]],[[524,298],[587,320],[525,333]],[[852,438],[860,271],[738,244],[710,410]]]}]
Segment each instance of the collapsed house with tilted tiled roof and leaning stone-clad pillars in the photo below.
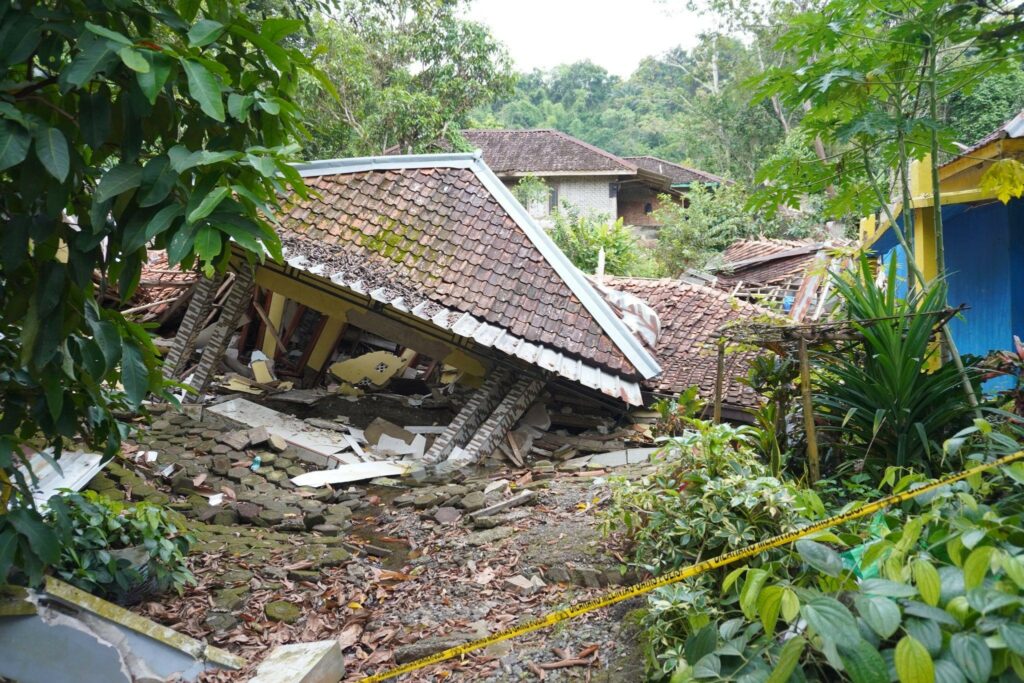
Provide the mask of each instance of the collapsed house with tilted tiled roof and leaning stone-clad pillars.
[{"label": "collapsed house with tilted tiled roof and leaning stone-clad pillars", "polygon": [[[313,194],[280,217],[285,262],[252,266],[238,254],[212,329],[203,324],[222,280],[203,280],[191,295],[165,373],[196,396],[222,361],[238,368],[253,350],[276,369],[257,385],[285,371],[300,388],[327,379],[358,394],[396,375],[454,374],[473,393],[433,438],[428,463],[494,452],[549,384],[642,404],[642,383],[660,372],[638,337],[645,307],[632,302],[626,319],[617,315],[479,156],[299,171]],[[348,355],[353,337],[385,352]]]}]

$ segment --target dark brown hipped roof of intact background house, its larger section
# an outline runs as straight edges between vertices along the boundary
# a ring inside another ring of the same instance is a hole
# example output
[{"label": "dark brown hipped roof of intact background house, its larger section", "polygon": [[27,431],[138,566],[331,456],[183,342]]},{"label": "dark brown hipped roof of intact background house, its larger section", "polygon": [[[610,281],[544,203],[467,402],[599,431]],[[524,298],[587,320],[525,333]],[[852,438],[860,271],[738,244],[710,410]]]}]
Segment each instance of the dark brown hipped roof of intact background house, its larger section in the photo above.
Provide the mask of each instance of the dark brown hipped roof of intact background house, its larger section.
[{"label": "dark brown hipped roof of intact background house, its larger section", "polygon": [[499,175],[637,172],[636,165],[625,159],[557,130],[464,130],[462,134]]}]

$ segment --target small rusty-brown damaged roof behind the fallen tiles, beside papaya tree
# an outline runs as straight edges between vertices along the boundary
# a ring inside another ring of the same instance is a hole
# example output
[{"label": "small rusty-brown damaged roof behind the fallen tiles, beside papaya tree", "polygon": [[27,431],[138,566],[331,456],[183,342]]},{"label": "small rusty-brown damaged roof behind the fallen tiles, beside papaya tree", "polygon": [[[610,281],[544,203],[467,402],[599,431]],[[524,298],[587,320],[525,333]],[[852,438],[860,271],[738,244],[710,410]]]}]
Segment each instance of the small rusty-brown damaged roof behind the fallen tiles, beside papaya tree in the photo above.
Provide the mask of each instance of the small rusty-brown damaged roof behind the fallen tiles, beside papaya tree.
[{"label": "small rusty-brown damaged roof behind the fallen tiles, beside papaya tree", "polygon": [[729,245],[718,274],[725,287],[738,282],[769,285],[803,275],[822,247],[813,240],[740,240]]}]

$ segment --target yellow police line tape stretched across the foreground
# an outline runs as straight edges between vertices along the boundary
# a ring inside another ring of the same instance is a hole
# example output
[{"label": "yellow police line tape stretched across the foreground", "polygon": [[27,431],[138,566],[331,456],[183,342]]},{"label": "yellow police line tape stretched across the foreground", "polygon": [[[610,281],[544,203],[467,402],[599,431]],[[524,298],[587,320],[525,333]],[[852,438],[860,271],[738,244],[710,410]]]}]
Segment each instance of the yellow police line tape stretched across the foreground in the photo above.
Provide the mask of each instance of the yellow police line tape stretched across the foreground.
[{"label": "yellow police line tape stretched across the foreground", "polygon": [[931,483],[927,483],[923,486],[919,486],[912,490],[907,490],[902,494],[894,494],[892,496],[887,496],[886,498],[879,499],[872,503],[867,503],[866,505],[859,507],[855,510],[850,510],[842,514],[835,515],[833,517],[827,517],[819,521],[813,522],[804,526],[803,528],[796,529],[794,531],[788,531],[786,533],[781,533],[760,543],[756,543],[753,546],[748,546],[746,548],[741,548],[739,550],[733,550],[731,552],[719,555],[710,560],[705,560],[702,562],[697,562],[696,564],[691,564],[689,566],[683,567],[681,569],[676,569],[675,571],[670,571],[669,573],[657,577],[655,579],[649,579],[647,581],[641,582],[639,584],[634,584],[633,586],[627,586],[625,588],[615,589],[608,593],[605,593],[599,598],[594,598],[593,600],[588,600],[586,602],[581,602],[580,604],[572,605],[571,607],[566,607],[565,609],[559,609],[558,611],[551,612],[546,616],[541,616],[536,620],[526,622],[519,626],[513,626],[511,628],[505,629],[504,631],[499,631],[485,638],[479,638],[473,640],[464,645],[458,645],[456,647],[451,647],[446,650],[442,650],[435,654],[410,661],[409,664],[401,665],[400,667],[395,667],[394,669],[389,669],[380,674],[374,674],[373,676],[368,676],[361,680],[361,683],[376,683],[377,681],[386,681],[389,678],[394,678],[395,676],[401,676],[402,674],[408,674],[410,672],[417,671],[418,669],[423,669],[424,667],[429,667],[430,665],[437,664],[439,661],[444,661],[453,657],[472,652],[473,650],[479,649],[481,647],[486,647],[494,643],[500,643],[503,640],[509,640],[510,638],[515,638],[516,636],[521,636],[525,633],[530,633],[532,631],[539,631],[541,629],[546,629],[549,626],[554,626],[565,622],[570,618],[574,618],[582,614],[592,612],[601,607],[607,607],[608,605],[613,605],[616,602],[622,602],[623,600],[629,600],[630,598],[635,598],[638,595],[643,595],[644,593],[650,593],[654,589],[663,588],[669,586],[670,584],[675,584],[683,579],[690,579],[691,577],[696,577],[711,569],[717,569],[723,567],[727,564],[732,564],[738,560],[746,559],[753,557],[758,553],[764,552],[765,550],[770,550],[772,548],[778,548],[786,544],[793,543],[798,539],[802,539],[805,536],[821,531],[823,529],[836,526],[851,519],[858,519],[860,517],[865,517],[869,514],[878,512],[879,510],[884,510],[893,505],[898,505],[909,501],[910,499],[922,496],[929,492],[941,488],[955,481],[961,481],[967,479],[970,476],[984,472],[985,470],[990,470],[994,467],[1000,467],[1002,465],[1009,465],[1010,463],[1016,462],[1018,460],[1024,459],[1024,451],[1018,451],[1017,453],[1000,458],[990,463],[984,463],[976,467],[964,470],[963,472],[957,472],[956,474],[949,474],[942,477],[941,479],[936,479]]}]

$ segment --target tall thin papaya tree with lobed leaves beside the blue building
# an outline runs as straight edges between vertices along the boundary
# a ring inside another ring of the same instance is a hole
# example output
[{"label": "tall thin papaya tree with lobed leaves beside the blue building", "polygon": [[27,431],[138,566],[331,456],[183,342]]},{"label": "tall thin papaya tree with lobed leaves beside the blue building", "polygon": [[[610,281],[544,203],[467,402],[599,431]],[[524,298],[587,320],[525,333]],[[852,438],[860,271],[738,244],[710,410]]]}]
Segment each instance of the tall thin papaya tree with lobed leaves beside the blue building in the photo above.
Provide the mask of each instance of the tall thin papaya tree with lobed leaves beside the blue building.
[{"label": "tall thin papaya tree with lobed leaves beside the blue building", "polygon": [[[1015,30],[1022,12],[1019,3],[1004,8],[926,0],[878,11],[860,0],[830,0],[793,17],[778,44],[806,66],[770,70],[761,95],[805,106],[797,139],[826,146],[827,155],[798,152],[767,164],[759,175],[765,181],[762,205],[797,206],[808,194],[825,193],[837,215],[863,215],[881,206],[908,256],[909,284],[927,286],[912,257],[914,212],[904,211],[898,223],[891,198],[910,206],[910,161],[931,155],[932,194],[941,205],[938,164],[943,151],[952,152],[941,103],[986,74],[1018,68],[1011,55],[1022,46]],[[942,212],[932,216],[941,280]],[[948,327],[943,331],[948,356],[959,366]],[[962,377],[977,404],[967,375]]]}]

